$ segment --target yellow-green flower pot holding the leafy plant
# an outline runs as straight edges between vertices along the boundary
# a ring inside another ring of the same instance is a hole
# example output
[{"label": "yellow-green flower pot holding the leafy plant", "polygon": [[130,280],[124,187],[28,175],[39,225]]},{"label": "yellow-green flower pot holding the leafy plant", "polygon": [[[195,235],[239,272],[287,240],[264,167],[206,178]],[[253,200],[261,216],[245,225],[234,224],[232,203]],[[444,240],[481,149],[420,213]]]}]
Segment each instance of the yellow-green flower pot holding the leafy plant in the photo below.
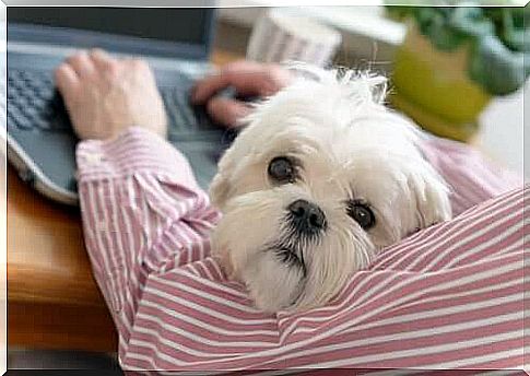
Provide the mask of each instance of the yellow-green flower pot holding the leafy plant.
[{"label": "yellow-green flower pot holding the leafy plant", "polygon": [[390,102],[425,130],[469,141],[491,95],[468,78],[468,51],[437,50],[411,24],[396,54]]}]

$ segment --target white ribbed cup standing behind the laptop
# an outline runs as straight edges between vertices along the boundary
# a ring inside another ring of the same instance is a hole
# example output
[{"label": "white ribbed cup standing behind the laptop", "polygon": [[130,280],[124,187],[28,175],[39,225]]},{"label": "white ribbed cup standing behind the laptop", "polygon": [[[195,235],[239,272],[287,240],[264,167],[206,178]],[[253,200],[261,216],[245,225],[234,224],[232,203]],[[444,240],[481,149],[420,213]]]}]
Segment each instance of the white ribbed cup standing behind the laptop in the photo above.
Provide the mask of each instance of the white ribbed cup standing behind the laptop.
[{"label": "white ribbed cup standing behind the laptop", "polygon": [[341,34],[313,19],[276,9],[258,20],[247,46],[247,59],[299,61],[325,67],[341,44]]}]

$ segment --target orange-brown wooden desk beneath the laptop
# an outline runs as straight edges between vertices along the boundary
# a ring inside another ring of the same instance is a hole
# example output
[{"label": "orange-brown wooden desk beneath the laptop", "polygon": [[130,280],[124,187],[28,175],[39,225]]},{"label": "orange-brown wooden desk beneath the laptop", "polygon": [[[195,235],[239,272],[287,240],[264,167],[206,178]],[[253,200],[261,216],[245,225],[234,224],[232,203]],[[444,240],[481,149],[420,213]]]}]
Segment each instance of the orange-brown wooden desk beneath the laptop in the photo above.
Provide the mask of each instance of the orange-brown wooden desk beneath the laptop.
[{"label": "orange-brown wooden desk beneath the laptop", "polygon": [[[212,61],[235,60],[216,51]],[[117,334],[92,277],[78,208],[58,205],[8,168],[8,344],[114,352]]]}]

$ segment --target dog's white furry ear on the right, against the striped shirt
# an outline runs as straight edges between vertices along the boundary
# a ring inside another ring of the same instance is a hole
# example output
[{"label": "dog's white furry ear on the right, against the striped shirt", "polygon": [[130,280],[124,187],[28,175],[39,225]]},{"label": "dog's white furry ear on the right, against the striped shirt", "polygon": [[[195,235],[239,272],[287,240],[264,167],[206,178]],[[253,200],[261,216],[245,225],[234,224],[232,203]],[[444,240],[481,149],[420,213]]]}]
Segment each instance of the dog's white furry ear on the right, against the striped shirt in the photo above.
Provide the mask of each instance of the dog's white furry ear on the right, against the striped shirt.
[{"label": "dog's white furry ear on the right, against the striped shirt", "polygon": [[431,165],[424,166],[420,173],[410,176],[409,186],[415,198],[420,228],[451,218],[450,189]]}]

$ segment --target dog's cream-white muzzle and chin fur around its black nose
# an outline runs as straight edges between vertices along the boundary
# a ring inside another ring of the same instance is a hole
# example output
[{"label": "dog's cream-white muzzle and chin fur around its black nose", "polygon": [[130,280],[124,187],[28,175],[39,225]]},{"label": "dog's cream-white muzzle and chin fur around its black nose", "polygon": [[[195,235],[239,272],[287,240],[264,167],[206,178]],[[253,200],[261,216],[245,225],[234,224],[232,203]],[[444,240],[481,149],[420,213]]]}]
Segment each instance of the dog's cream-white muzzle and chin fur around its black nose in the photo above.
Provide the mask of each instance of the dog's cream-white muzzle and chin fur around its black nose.
[{"label": "dog's cream-white muzzle and chin fur around its black nose", "polygon": [[293,195],[267,190],[229,200],[212,236],[229,277],[244,282],[256,306],[269,313],[328,303],[374,255],[368,237],[339,218],[330,219],[318,239],[290,232],[285,207]]}]

